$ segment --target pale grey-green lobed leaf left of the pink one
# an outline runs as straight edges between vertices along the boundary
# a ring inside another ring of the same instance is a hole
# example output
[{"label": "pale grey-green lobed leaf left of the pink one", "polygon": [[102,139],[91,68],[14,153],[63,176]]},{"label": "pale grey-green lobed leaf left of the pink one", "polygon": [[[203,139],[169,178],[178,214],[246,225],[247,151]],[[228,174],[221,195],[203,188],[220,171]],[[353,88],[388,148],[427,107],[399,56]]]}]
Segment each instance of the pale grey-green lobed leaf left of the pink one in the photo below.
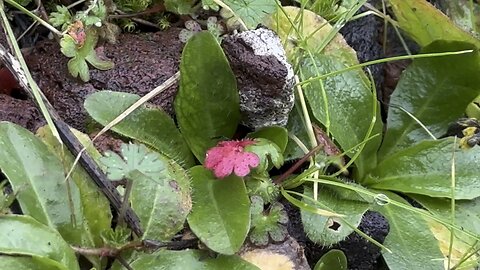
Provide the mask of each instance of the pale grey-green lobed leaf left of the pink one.
[{"label": "pale grey-green lobed leaf left of the pink one", "polygon": [[122,144],[121,152],[123,157],[108,151],[100,158],[100,162],[107,167],[110,180],[135,179],[138,173],[152,180],[162,178],[165,165],[159,153],[149,151],[143,144]]}]

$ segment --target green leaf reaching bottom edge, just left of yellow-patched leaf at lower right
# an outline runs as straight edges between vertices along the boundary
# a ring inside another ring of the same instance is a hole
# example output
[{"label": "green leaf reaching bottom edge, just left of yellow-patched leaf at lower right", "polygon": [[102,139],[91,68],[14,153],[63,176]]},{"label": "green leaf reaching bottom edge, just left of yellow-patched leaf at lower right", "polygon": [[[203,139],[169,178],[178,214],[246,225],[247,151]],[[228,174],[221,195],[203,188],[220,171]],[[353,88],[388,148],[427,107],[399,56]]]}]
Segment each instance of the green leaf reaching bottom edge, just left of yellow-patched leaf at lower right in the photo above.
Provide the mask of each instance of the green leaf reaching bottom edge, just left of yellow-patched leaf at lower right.
[{"label": "green leaf reaching bottom edge, just left of yellow-patched leaf at lower right", "polygon": [[[394,193],[386,192],[385,195],[391,200],[408,204]],[[391,253],[382,249],[389,269],[444,269],[438,242],[422,216],[392,204],[376,205],[372,210],[385,216],[390,225],[383,245],[391,250]]]}]

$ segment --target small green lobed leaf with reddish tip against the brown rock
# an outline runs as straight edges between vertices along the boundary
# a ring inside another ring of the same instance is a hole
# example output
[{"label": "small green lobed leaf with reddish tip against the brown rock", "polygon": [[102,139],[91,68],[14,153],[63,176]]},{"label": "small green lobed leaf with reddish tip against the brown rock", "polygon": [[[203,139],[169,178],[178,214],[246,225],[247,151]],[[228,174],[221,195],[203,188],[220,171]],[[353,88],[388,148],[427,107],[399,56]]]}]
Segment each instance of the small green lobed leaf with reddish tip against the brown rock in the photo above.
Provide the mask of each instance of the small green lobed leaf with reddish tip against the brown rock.
[{"label": "small green lobed leaf with reddish tip against the brown rock", "polygon": [[[78,30],[80,31],[80,30]],[[76,32],[78,32],[76,31]],[[95,51],[95,45],[98,36],[95,30],[89,28],[85,30],[84,40],[77,40],[70,34],[66,34],[60,40],[60,51],[70,57],[68,61],[68,71],[73,77],[80,77],[84,82],[90,80],[87,62],[99,70],[108,70],[113,68],[113,62],[100,59]],[[83,41],[83,44],[79,42]]]}]

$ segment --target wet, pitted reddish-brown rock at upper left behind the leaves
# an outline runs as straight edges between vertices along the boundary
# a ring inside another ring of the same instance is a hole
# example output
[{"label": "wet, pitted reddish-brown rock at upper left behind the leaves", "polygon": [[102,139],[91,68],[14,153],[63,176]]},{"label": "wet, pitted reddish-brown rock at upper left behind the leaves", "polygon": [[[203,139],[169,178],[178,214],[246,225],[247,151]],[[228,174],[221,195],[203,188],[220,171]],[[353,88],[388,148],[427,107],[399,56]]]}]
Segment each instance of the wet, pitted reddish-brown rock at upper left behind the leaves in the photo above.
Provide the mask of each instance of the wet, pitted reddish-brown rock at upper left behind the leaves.
[{"label": "wet, pitted reddish-brown rock at upper left behind the leaves", "polygon": [[[72,127],[85,131],[87,113],[85,98],[99,90],[145,95],[178,70],[183,44],[178,40],[180,29],[145,34],[122,34],[116,44],[105,44],[104,54],[115,63],[108,71],[90,69],[90,81],[83,83],[67,70],[68,59],[57,42],[38,44],[26,57],[40,89],[62,119]],[[172,114],[177,86],[172,86],[151,100]]]}]

